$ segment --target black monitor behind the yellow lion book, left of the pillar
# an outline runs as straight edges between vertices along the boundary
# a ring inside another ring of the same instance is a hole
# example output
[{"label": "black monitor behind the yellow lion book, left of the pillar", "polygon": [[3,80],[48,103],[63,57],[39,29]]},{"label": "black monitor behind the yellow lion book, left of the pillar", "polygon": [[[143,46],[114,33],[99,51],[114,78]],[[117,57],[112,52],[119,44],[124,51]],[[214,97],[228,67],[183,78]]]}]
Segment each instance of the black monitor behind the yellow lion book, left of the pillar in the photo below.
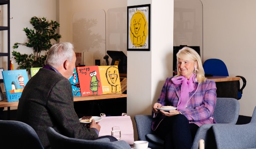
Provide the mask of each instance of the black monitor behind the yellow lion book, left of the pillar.
[{"label": "black monitor behind the yellow lion book, left of the pillar", "polygon": [[118,64],[119,73],[127,73],[127,56],[122,51],[107,51],[112,58],[111,66]]}]

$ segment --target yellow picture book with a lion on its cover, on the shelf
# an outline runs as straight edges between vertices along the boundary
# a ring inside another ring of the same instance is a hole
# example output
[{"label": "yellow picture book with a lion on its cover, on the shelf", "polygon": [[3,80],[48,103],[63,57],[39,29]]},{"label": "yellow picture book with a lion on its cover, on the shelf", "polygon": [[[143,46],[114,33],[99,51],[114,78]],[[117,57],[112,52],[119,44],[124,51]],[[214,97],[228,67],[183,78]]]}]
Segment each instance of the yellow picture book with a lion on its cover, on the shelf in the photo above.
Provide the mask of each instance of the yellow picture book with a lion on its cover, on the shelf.
[{"label": "yellow picture book with a lion on its cover, on the shelf", "polygon": [[102,94],[121,94],[118,66],[99,66]]}]

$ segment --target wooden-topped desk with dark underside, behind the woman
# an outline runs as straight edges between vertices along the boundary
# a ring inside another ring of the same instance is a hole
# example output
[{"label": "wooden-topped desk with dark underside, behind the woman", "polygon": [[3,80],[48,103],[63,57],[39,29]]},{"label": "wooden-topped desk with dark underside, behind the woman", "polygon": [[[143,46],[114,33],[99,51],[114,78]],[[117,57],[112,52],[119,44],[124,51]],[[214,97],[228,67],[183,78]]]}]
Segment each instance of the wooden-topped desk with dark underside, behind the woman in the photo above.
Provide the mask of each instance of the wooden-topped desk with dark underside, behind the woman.
[{"label": "wooden-topped desk with dark underside, behind the woman", "polygon": [[241,79],[240,77],[211,76],[207,78],[215,81],[217,97],[237,99],[238,83],[240,83],[239,80]]}]

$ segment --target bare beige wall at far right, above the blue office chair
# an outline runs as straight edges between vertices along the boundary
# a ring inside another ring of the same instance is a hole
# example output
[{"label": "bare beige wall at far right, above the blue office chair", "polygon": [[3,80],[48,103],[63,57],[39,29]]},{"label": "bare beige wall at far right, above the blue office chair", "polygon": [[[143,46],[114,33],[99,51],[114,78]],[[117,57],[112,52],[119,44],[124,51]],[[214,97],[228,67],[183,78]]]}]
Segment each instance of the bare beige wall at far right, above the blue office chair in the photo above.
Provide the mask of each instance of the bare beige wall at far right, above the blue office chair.
[{"label": "bare beige wall at far right, above the blue office chair", "polygon": [[[204,12],[204,60],[224,61],[230,76],[247,80],[240,115],[252,116],[256,106],[256,0],[202,0]],[[228,105],[227,105],[228,106]]]}]

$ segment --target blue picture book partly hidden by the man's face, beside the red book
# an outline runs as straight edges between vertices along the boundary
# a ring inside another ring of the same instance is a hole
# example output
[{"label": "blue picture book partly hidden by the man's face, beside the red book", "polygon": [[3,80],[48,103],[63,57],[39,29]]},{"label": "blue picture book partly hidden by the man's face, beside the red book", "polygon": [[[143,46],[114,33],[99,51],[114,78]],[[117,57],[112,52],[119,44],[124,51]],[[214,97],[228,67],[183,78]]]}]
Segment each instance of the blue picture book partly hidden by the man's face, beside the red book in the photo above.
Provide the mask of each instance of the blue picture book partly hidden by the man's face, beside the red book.
[{"label": "blue picture book partly hidden by the man's face, beside the red book", "polygon": [[76,69],[74,69],[72,76],[70,77],[70,83],[72,85],[73,96],[81,96],[80,84],[78,81]]}]

